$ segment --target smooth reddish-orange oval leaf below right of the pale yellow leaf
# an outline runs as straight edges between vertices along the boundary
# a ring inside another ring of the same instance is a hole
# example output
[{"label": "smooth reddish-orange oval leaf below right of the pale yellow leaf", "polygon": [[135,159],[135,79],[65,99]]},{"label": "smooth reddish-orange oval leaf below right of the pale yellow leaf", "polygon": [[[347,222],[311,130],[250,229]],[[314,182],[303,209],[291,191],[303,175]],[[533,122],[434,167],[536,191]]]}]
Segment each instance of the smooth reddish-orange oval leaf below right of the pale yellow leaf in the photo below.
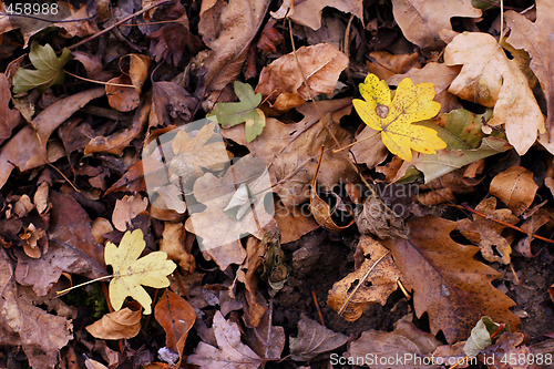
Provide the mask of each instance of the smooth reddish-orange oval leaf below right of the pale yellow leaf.
[{"label": "smooth reddish-orange oval leaf below right of the pale yellow leaf", "polygon": [[154,317],[165,330],[165,346],[178,353],[178,367],[186,337],[196,320],[196,312],[184,298],[165,289],[154,308]]}]

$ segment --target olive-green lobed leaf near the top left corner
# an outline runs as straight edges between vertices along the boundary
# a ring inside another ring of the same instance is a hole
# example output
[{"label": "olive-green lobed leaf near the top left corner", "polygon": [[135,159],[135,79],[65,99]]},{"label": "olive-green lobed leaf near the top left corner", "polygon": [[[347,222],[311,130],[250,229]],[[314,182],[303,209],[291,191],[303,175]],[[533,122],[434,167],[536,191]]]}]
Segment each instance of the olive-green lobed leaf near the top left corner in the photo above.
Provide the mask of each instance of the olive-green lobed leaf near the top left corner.
[{"label": "olive-green lobed leaf near the top left corner", "polygon": [[71,51],[64,48],[62,55],[58,58],[54,50],[48,43],[41,47],[37,42],[31,43],[29,59],[37,70],[20,68],[13,75],[13,92],[25,92],[35,88],[45,90],[52,84],[61,84],[65,78],[63,65],[71,59]]}]

